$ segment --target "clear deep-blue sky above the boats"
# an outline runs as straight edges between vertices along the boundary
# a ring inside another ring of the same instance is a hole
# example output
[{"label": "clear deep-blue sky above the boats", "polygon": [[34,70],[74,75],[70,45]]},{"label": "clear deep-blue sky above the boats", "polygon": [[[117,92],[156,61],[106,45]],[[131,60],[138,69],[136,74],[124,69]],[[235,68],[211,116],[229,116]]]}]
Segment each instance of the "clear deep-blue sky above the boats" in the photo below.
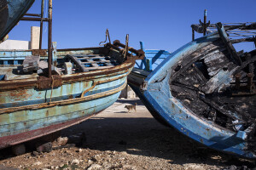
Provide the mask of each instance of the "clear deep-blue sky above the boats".
[{"label": "clear deep-blue sky above the boats", "polygon": [[[190,25],[203,20],[204,9],[211,23],[253,22],[255,6],[256,0],[53,0],[53,41],[57,48],[97,47],[108,28],[112,41],[125,42],[128,33],[133,48],[143,41],[145,48],[173,52],[191,41]],[[28,13],[40,13],[40,1]],[[30,40],[30,26],[39,23],[20,21],[9,39]],[[46,48],[46,24],[44,31]]]}]

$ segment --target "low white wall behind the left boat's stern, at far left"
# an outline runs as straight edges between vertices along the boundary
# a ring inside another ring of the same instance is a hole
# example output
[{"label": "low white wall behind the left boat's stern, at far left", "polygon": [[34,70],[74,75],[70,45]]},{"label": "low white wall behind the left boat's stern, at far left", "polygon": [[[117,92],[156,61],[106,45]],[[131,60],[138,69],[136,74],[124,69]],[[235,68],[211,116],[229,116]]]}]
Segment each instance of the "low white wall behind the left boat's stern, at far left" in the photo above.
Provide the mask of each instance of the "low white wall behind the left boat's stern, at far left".
[{"label": "low white wall behind the left boat's stern, at far left", "polygon": [[0,49],[29,49],[30,42],[20,40],[6,40],[0,43]]}]

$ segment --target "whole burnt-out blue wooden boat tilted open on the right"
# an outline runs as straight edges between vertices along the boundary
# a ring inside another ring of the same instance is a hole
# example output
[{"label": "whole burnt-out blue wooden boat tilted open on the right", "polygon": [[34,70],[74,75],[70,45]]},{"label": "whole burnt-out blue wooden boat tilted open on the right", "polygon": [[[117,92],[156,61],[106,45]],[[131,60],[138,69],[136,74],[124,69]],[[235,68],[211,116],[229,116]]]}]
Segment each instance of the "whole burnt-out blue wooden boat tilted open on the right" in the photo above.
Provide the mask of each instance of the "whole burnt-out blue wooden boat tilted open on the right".
[{"label": "whole burnt-out blue wooden boat tilted open on the right", "polygon": [[[215,30],[152,70],[136,64],[128,83],[163,124],[212,149],[255,159],[256,50],[236,52],[233,44],[255,43],[256,24],[209,27]],[[234,33],[240,36],[230,39]]]}]

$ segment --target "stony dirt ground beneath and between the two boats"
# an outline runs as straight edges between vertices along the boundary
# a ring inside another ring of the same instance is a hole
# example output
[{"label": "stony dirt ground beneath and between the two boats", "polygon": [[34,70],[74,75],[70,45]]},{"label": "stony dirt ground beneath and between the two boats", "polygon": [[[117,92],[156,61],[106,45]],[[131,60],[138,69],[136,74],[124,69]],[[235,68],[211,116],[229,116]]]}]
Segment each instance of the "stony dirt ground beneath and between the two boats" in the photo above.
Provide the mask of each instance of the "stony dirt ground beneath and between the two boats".
[{"label": "stony dirt ground beneath and between the two boats", "polygon": [[[125,105],[137,103],[127,113]],[[0,169],[246,169],[253,161],[238,159],[197,144],[170,127],[155,121],[139,99],[118,99],[88,121],[61,131],[80,146],[38,154],[27,150],[14,156],[0,150]],[[78,138],[77,138],[78,139]],[[27,143],[30,144],[30,143]],[[26,145],[27,145],[26,144]],[[10,167],[10,168],[7,168]],[[234,167],[234,166],[233,166]],[[236,168],[237,169],[237,168]]]}]

